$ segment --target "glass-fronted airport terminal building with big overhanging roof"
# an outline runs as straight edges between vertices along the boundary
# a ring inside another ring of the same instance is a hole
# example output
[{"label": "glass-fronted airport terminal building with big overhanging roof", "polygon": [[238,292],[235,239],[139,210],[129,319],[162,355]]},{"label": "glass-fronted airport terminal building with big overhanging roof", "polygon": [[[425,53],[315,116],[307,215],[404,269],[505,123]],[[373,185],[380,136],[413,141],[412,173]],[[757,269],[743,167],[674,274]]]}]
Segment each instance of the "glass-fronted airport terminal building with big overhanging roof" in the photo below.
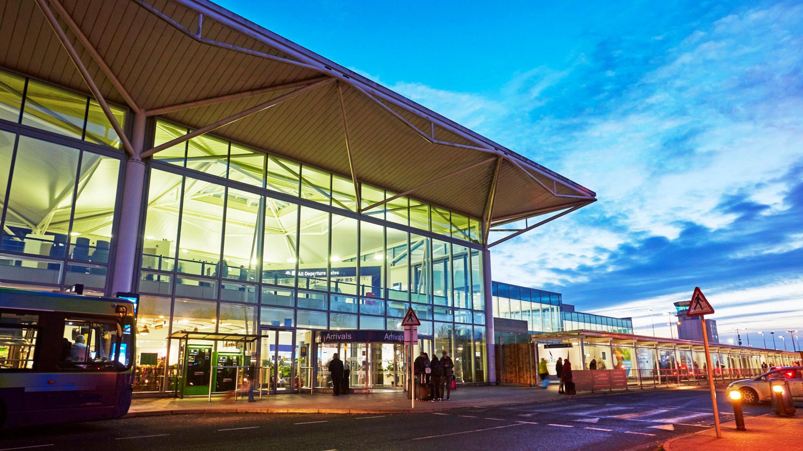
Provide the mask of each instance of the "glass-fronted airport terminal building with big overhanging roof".
[{"label": "glass-fronted airport terminal building with big overhanging roof", "polygon": [[596,200],[206,0],[0,17],[0,283],[139,293],[137,392],[199,355],[326,388],[334,352],[398,387],[410,307],[422,349],[492,381],[491,248]]}]

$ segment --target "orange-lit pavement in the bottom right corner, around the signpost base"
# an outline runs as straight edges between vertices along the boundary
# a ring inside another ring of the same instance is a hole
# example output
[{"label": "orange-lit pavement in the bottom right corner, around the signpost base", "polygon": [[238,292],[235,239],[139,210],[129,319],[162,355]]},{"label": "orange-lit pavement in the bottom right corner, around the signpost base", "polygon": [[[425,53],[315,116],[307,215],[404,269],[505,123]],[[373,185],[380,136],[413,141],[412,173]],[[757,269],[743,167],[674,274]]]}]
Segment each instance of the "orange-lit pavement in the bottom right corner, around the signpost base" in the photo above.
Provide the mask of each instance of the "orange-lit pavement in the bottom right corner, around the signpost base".
[{"label": "orange-lit pavement in the bottom right corner, around the signpost base", "polygon": [[722,425],[722,438],[714,429],[675,437],[663,444],[664,451],[698,449],[799,449],[803,437],[803,416],[765,414],[744,421],[746,431],[737,431],[736,422]]}]

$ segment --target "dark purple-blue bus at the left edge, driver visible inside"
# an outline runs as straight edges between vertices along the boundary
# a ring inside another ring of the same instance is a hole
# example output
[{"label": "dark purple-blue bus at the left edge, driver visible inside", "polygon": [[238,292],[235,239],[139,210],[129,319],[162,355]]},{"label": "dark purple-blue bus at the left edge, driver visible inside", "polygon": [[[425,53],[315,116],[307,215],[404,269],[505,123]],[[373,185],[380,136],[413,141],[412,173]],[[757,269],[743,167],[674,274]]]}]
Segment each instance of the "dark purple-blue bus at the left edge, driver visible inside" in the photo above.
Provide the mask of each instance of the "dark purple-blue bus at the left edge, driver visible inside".
[{"label": "dark purple-blue bus at the left edge, driver visible inside", "polygon": [[136,303],[0,287],[0,428],[125,415]]}]

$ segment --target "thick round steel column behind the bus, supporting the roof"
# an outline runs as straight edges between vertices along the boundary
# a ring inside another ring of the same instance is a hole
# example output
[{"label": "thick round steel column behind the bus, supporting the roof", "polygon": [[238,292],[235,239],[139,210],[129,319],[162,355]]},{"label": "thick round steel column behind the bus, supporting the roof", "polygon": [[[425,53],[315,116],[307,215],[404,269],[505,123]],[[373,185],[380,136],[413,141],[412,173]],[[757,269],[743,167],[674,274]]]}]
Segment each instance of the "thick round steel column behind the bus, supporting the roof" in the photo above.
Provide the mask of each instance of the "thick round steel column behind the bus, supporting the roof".
[{"label": "thick round steel column behind the bus, supporting the roof", "polygon": [[[145,113],[134,115],[132,128],[132,144],[141,152],[145,148]],[[123,183],[123,201],[120,208],[120,226],[117,230],[116,251],[114,255],[114,275],[112,276],[112,294],[118,291],[132,291],[135,264],[139,260],[137,243],[139,242],[140,217],[142,201],[145,196],[145,163],[142,160],[129,158],[125,164]]]}]

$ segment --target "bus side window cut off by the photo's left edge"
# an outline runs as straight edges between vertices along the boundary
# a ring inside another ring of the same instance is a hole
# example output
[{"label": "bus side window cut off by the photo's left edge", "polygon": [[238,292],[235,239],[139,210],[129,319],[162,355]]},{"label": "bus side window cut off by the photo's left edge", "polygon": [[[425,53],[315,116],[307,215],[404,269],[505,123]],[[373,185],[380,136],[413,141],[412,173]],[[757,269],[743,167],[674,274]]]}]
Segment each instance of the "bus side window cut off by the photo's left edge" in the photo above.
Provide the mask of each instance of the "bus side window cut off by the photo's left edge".
[{"label": "bus side window cut off by the photo's left edge", "polygon": [[39,315],[0,311],[0,371],[34,368]]}]

